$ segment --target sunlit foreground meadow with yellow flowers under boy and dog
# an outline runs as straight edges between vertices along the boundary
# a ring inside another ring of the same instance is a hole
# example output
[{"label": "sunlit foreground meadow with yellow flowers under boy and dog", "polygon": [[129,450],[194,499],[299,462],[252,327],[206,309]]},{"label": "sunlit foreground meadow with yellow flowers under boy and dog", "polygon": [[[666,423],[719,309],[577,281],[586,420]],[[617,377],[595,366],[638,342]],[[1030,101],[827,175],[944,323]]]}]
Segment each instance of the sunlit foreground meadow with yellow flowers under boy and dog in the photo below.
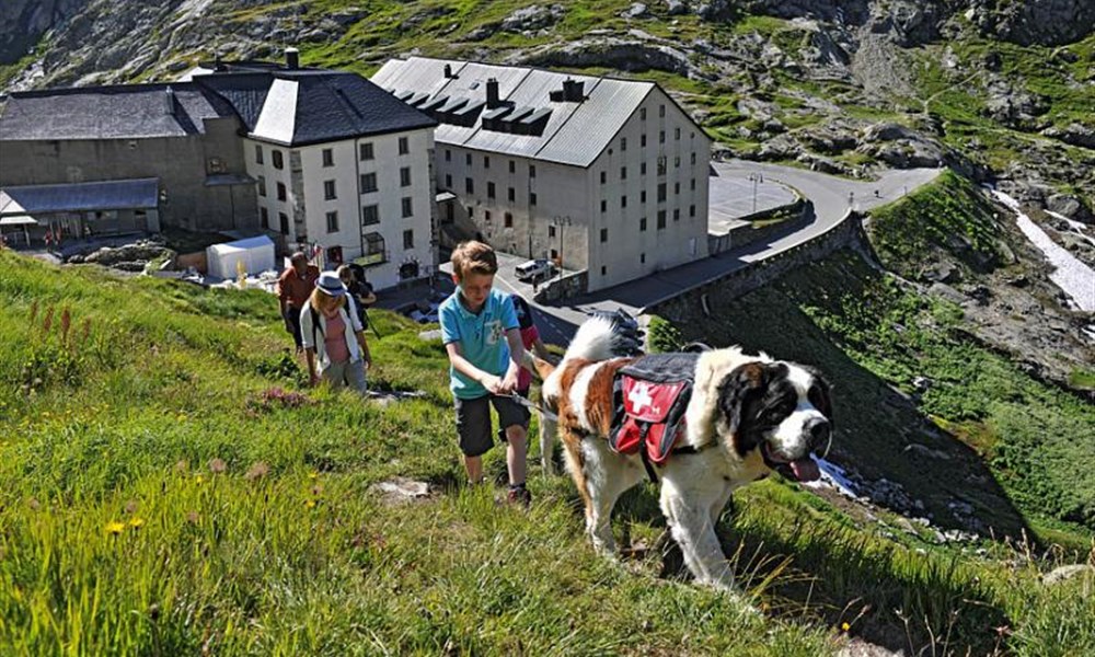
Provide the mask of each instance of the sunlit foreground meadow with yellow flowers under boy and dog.
[{"label": "sunlit foreground meadow with yellow flowers under boy and dog", "polygon": [[[817,655],[843,622],[896,648],[932,632],[983,653],[1005,624],[1019,654],[1095,645],[1084,581],[1015,590],[1035,564],[958,563],[780,482],[719,530],[753,616],[672,560],[597,557],[563,477],[533,476],[529,516],[454,487],[443,356],[399,318],[380,315],[372,382],[425,399],[295,406],[263,401],[296,373],[263,293],[0,267],[0,645],[16,653]],[[396,474],[440,493],[389,507],[369,485]],[[660,530],[653,493],[630,494],[624,544]]]}]

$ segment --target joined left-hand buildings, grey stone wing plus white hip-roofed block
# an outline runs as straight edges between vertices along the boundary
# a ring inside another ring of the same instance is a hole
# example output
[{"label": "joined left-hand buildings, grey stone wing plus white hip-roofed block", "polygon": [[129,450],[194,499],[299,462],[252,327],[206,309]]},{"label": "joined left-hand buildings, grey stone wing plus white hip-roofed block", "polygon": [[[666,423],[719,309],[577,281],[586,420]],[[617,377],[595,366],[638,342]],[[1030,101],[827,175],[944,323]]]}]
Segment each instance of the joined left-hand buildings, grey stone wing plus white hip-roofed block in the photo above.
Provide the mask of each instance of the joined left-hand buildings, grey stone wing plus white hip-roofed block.
[{"label": "joined left-hand buildings, grey stone wing plus white hip-roofed block", "polygon": [[[151,180],[162,226],[266,230],[283,250],[360,262],[378,288],[433,273],[434,119],[360,76],[301,69],[292,51],[285,66],[198,73],[12,94],[0,114],[0,187],[15,200],[45,186],[64,198],[78,183]],[[48,221],[67,234],[157,228],[149,208],[87,208],[54,203]]]}]

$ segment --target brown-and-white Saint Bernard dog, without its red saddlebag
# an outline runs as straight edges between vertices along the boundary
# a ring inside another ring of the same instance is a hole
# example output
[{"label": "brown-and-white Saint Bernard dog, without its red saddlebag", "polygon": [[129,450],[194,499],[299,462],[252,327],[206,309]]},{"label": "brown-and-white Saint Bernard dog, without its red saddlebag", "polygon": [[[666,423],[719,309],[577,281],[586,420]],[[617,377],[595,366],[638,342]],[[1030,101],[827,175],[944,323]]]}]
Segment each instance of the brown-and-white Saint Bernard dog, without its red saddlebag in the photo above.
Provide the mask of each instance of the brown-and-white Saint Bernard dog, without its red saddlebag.
[{"label": "brown-and-white Saint Bernard dog, without its red saddlebag", "polygon": [[[609,442],[620,412],[615,378],[637,360],[614,357],[618,341],[610,321],[593,318],[579,327],[557,366],[533,358],[544,380],[544,404],[558,415],[566,464],[586,507],[586,530],[608,555],[615,553],[611,515],[616,499],[647,477],[642,449],[618,453]],[[736,488],[773,470],[796,481],[818,479],[811,453],[827,448],[832,436],[829,385],[806,367],[749,356],[738,347],[704,351],[694,362],[675,453],[652,472],[660,480],[661,511],[695,579],[731,589],[715,523]],[[551,443],[542,447],[550,458]]]}]

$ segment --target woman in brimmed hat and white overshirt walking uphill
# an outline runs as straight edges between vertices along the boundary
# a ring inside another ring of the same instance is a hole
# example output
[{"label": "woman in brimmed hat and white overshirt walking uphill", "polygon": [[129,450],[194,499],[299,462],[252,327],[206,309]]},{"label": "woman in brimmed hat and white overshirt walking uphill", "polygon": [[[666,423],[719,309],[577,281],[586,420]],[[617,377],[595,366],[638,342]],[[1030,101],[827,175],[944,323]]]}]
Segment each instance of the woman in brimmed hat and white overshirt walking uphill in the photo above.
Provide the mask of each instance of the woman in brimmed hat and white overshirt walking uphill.
[{"label": "woman in brimmed hat and white overshirt walking uphill", "polygon": [[300,334],[312,385],[348,385],[366,393],[366,370],[372,366],[365,327],[354,299],[334,272],[320,274],[315,289],[300,311]]}]

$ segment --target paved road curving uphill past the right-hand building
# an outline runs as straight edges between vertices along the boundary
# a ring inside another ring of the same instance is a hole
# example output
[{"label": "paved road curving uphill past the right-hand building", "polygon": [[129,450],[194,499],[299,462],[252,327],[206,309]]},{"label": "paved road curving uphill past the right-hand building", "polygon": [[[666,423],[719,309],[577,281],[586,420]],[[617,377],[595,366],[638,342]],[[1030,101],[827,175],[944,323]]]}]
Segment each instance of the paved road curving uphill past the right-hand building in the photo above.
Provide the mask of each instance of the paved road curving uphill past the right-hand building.
[{"label": "paved road curving uphill past the right-hand building", "polygon": [[[806,226],[769,242],[731,249],[716,256],[667,269],[639,280],[584,297],[565,299],[560,306],[538,306],[540,313],[537,320],[544,335],[544,342],[568,344],[578,325],[595,310],[614,311],[623,308],[638,315],[647,306],[672,297],[682,289],[724,276],[818,237],[839,222],[851,208],[869,210],[896,200],[934,180],[942,171],[940,169],[894,170],[885,172],[877,181],[862,182],[779,164],[737,160],[712,164],[719,176],[748,180],[750,174],[763,173],[765,183],[782,183],[793,187],[804,198],[814,203],[815,216]],[[499,278],[503,289],[507,289],[505,273]]]}]

